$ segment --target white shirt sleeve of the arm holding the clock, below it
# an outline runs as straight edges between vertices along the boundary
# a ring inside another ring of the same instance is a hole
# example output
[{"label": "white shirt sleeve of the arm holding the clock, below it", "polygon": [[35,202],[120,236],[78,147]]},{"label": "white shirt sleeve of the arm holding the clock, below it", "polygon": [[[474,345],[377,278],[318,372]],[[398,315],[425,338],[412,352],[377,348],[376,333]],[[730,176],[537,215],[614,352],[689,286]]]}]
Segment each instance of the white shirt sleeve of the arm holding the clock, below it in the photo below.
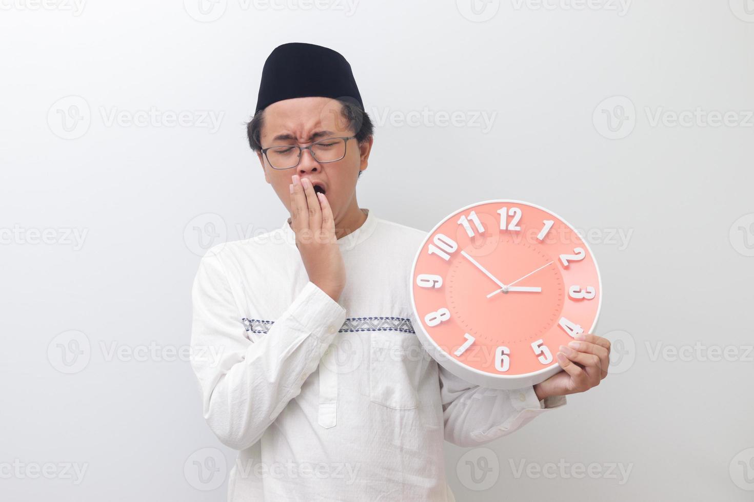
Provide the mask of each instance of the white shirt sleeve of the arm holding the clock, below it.
[{"label": "white shirt sleeve of the arm holding the clock, below it", "polygon": [[566,396],[538,400],[532,385],[513,391],[480,387],[437,366],[445,439],[458,446],[489,443],[566,404]]}]

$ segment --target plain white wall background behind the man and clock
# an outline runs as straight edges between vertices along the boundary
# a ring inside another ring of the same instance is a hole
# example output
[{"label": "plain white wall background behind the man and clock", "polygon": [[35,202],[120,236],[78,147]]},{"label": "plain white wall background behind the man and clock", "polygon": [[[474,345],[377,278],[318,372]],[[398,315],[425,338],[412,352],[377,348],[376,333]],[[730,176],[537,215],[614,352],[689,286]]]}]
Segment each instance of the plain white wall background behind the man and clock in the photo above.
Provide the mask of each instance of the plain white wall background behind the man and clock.
[{"label": "plain white wall background behind the man and clock", "polygon": [[235,453],[164,359],[207,243],[287,217],[244,123],[288,41],[351,62],[361,207],[430,230],[522,199],[593,232],[614,374],[489,449],[446,443],[458,500],[754,498],[754,2],[474,1],[0,0],[2,500],[225,500]]}]

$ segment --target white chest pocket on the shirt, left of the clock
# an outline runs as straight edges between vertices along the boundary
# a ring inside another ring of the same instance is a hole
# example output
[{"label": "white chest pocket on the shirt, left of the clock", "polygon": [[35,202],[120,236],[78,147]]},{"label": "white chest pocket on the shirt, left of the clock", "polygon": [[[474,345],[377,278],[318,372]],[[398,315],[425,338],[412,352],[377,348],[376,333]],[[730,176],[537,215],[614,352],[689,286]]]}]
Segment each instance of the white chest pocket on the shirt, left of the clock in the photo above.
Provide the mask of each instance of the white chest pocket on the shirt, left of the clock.
[{"label": "white chest pocket on the shirt, left of the clock", "polygon": [[421,354],[421,342],[414,333],[370,333],[369,400],[392,409],[416,408]]}]

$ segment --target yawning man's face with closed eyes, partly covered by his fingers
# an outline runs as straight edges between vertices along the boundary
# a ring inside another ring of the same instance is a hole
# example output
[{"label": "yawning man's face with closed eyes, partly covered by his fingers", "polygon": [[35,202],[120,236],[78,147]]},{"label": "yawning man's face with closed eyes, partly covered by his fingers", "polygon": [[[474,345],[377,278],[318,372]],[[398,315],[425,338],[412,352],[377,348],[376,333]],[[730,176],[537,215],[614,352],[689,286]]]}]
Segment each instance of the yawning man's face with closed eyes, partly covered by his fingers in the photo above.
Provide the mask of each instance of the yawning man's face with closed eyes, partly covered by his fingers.
[{"label": "yawning man's face with closed eyes, partly covered by his fingers", "polygon": [[[341,113],[342,105],[336,99],[306,97],[285,99],[265,108],[260,143],[262,148],[278,145],[311,145],[314,141],[354,132]],[[309,151],[302,151],[301,162],[292,169],[273,169],[264,155],[258,154],[265,172],[265,180],[272,185],[277,196],[290,211],[290,191],[293,175],[309,178],[313,184],[325,187],[325,196],[333,209],[336,223],[356,202],[356,181],[360,171],[366,169],[372,138],[358,145],[356,138],[348,140],[345,157],[331,163],[318,163]]]}]

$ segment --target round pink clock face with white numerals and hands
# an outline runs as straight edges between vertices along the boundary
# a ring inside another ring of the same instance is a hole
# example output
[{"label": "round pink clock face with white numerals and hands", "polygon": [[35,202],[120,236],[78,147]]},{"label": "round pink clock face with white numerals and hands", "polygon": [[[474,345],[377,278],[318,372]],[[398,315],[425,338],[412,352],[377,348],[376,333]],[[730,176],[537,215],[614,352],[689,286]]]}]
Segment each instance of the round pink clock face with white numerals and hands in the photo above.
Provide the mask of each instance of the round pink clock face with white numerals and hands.
[{"label": "round pink clock face with white numerals and hands", "polygon": [[412,270],[422,342],[443,353],[449,370],[482,375],[492,386],[521,376],[532,385],[532,376],[556,373],[559,345],[592,330],[600,299],[587,243],[527,202],[456,211],[428,235]]}]

